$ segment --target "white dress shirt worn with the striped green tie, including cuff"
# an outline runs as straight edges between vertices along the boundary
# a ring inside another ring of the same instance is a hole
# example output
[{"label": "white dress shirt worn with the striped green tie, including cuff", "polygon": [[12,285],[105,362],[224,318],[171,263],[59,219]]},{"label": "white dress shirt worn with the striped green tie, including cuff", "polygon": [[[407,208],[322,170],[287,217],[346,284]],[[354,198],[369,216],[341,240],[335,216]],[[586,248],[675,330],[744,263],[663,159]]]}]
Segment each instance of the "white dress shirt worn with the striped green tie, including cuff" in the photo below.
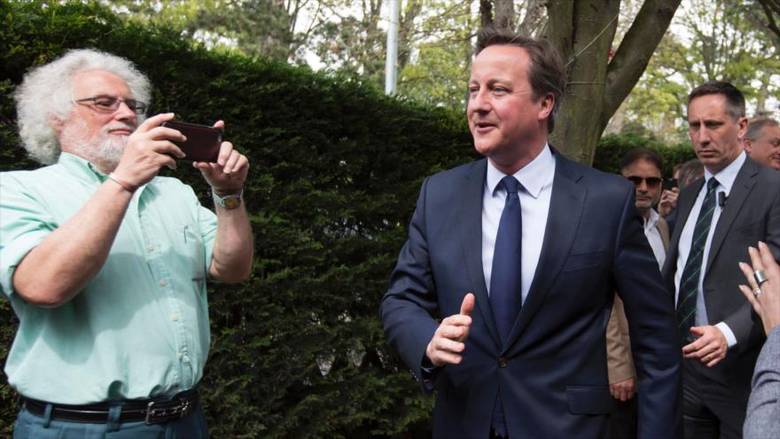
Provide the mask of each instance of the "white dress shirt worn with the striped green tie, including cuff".
[{"label": "white dress shirt worn with the striped green tie, including cuff", "polygon": [[[715,188],[715,211],[713,213],[713,223],[710,226],[709,233],[707,234],[707,239],[704,246],[704,255],[702,256],[701,262],[701,271],[698,275],[698,288],[696,293],[697,326],[709,325],[709,323],[707,323],[709,320],[707,319],[706,315],[703,286],[704,277],[706,276],[706,263],[707,259],[709,259],[710,247],[713,243],[715,227],[717,226],[718,220],[721,218],[721,212],[723,211],[723,208],[718,202],[720,197],[722,197],[720,192],[724,192],[726,197],[729,196],[729,193],[731,192],[731,186],[734,185],[734,180],[737,178],[737,173],[739,172],[739,169],[742,169],[742,165],[745,163],[745,157],[747,157],[745,151],[739,153],[737,159],[729,163],[729,166],[722,169],[721,172],[718,172],[715,175],[713,175],[709,169],[704,169],[705,184],[702,185],[701,190],[698,192],[696,202],[693,203],[693,208],[690,210],[688,221],[685,222],[683,232],[680,235],[680,243],[678,246],[679,251],[677,255],[677,270],[675,272],[675,306],[677,303],[677,295],[680,294],[680,278],[683,277],[685,263],[688,261],[688,254],[690,254],[690,241],[693,239],[693,228],[696,226],[696,221],[698,220],[698,211],[701,210],[701,204],[704,202],[704,197],[706,195],[706,182],[708,182],[709,179],[714,176],[718,180],[718,186]],[[729,348],[737,345],[737,337],[734,336],[734,333],[731,331],[731,328],[729,328],[729,325],[726,325],[724,322],[720,322],[715,326],[717,326],[723,335],[726,336],[726,341],[729,343]]]}]

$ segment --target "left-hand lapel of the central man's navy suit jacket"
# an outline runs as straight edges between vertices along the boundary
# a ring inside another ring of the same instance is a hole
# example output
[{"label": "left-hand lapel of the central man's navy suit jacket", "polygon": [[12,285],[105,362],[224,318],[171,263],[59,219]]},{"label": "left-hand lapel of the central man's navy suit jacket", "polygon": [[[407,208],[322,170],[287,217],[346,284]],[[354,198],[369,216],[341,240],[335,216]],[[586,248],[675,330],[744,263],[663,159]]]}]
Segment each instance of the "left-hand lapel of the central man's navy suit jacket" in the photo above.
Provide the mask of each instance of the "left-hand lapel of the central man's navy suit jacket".
[{"label": "left-hand lapel of the central man's navy suit jacket", "polygon": [[464,242],[464,258],[466,270],[474,286],[474,296],[477,299],[477,308],[482,318],[487,323],[490,336],[493,337],[496,346],[501,346],[498,330],[495,327],[493,310],[490,308],[490,299],[487,297],[485,285],[485,273],[482,270],[482,195],[485,190],[487,177],[487,159],[477,161],[464,179],[463,188],[460,191],[461,211],[464,220],[461,222],[461,239]]}]

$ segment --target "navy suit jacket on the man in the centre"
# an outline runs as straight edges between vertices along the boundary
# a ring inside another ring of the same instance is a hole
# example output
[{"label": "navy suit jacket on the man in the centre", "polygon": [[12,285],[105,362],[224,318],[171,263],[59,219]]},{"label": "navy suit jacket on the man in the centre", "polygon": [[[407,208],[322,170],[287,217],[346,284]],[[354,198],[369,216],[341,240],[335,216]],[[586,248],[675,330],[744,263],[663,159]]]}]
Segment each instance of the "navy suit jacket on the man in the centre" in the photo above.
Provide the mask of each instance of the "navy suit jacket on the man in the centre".
[{"label": "navy suit jacket on the man in the centre", "polygon": [[481,262],[487,161],[425,180],[381,306],[390,345],[423,380],[434,317],[476,295],[463,361],[437,374],[433,435],[485,439],[501,389],[509,434],[599,437],[612,408],[605,327],[614,291],[628,314],[639,375],[640,435],[678,435],[681,353],[633,184],[555,153],[556,174],[533,283],[501,346]]}]

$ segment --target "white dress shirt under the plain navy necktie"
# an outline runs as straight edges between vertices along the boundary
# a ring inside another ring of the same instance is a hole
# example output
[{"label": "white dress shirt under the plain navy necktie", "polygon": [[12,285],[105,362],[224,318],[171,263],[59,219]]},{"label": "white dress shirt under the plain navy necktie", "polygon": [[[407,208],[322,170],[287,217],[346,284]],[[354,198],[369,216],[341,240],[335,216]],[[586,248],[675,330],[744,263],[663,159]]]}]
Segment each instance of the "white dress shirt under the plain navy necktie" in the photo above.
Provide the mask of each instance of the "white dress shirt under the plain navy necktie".
[{"label": "white dress shirt under the plain navy necktie", "polygon": [[[490,275],[493,271],[493,250],[498,223],[501,221],[506,190],[499,186],[503,172],[487,161],[487,179],[482,195],[482,270],[485,274],[487,294],[490,294]],[[522,188],[519,190],[523,216],[523,242],[521,262],[521,301],[525,302],[528,289],[534,280],[536,265],[542,253],[544,230],[550,213],[552,180],[555,176],[555,157],[550,145],[544,145],[542,153],[514,174]]]}]

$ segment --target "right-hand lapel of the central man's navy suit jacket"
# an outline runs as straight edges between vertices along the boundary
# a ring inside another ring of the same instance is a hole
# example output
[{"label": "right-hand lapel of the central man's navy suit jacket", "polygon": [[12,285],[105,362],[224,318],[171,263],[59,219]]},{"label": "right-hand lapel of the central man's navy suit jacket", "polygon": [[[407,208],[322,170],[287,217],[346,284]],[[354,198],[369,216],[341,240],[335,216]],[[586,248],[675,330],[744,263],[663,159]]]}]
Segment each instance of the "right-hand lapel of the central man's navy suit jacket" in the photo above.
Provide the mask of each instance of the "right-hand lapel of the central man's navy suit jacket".
[{"label": "right-hand lapel of the central man's navy suit jacket", "polygon": [[558,272],[563,268],[566,257],[571,251],[588,194],[587,189],[577,184],[582,177],[581,172],[577,171],[560,153],[553,151],[556,169],[542,253],[539,255],[539,263],[536,265],[534,280],[528,289],[526,302],[520,309],[504,351],[517,341],[519,334],[534,317],[544,296],[550,292],[550,287],[558,278]]}]

